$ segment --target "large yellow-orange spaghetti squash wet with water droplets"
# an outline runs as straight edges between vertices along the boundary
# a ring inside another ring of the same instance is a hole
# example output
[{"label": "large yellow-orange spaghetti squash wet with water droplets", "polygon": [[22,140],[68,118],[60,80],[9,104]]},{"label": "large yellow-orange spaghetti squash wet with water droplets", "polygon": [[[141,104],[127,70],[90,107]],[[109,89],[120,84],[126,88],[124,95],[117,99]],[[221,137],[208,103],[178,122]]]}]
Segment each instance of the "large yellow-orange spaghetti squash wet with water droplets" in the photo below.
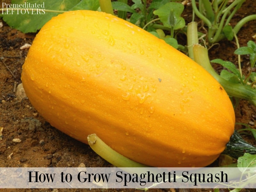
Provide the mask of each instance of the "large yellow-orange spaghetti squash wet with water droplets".
[{"label": "large yellow-orange spaghetti squash wet with water droplets", "polygon": [[21,75],[52,126],[87,143],[96,133],[155,167],[204,167],[234,132],[227,93],[201,66],[115,16],[71,11],[48,21]]}]

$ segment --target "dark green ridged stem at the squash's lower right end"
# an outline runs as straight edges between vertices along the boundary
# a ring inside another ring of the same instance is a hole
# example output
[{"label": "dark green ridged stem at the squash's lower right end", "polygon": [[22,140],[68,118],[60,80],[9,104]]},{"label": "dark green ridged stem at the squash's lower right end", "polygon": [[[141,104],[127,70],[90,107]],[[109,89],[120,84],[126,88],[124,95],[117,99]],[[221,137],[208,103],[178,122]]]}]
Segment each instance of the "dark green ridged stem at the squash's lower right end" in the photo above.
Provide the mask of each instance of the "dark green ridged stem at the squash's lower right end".
[{"label": "dark green ridged stem at the squash's lower right end", "polygon": [[239,133],[235,131],[222,153],[237,159],[243,156],[244,153],[256,154],[256,147],[245,142]]}]

